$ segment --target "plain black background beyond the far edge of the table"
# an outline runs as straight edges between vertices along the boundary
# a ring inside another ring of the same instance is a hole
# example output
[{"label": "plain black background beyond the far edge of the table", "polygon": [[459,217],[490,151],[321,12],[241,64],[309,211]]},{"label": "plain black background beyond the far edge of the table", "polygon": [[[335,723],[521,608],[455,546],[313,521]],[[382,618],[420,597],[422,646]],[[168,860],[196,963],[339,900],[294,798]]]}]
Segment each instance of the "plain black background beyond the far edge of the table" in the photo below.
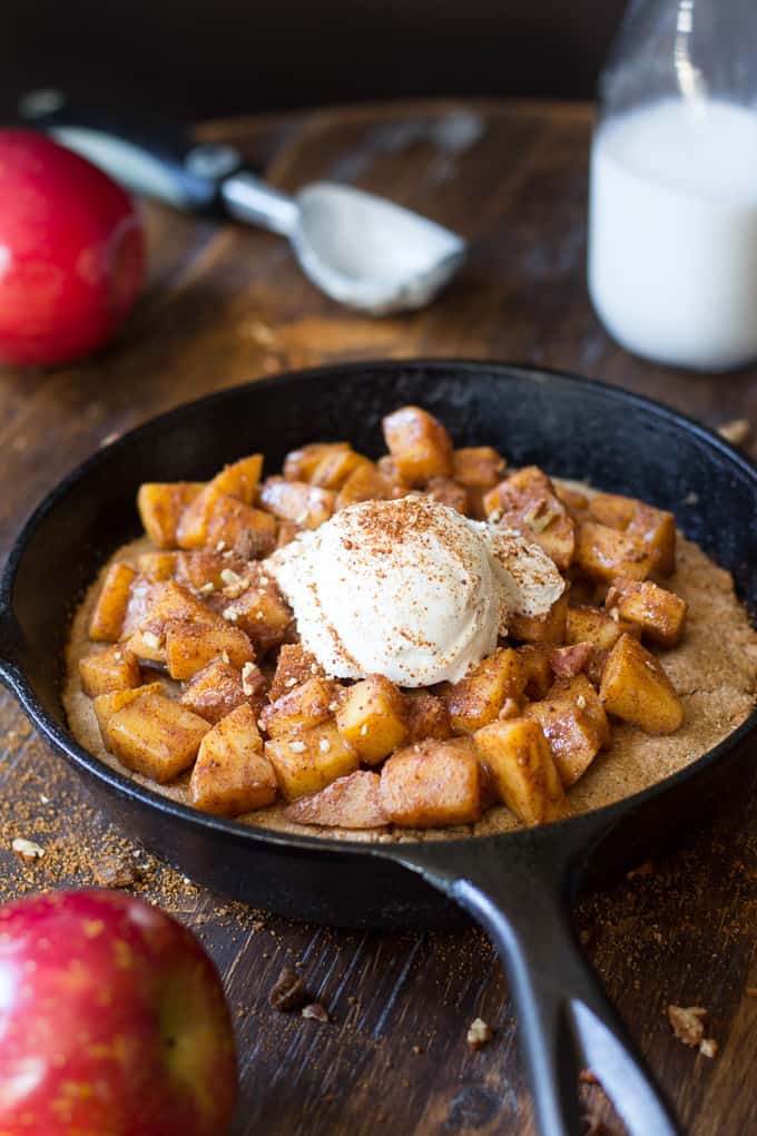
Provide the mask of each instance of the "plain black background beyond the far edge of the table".
[{"label": "plain black background beyond the far edge of the table", "polygon": [[182,119],[413,95],[590,98],[624,0],[0,0],[0,111],[59,86]]}]

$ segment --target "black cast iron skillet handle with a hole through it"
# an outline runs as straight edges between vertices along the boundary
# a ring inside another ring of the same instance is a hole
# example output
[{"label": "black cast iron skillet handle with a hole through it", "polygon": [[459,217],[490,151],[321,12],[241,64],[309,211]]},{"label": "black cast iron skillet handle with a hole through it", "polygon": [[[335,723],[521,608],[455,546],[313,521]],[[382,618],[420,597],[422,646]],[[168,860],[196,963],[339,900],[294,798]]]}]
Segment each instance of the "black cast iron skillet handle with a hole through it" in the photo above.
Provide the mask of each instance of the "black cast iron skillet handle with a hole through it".
[{"label": "black cast iron skillet handle with a hole through it", "polygon": [[485,838],[397,851],[407,868],[491,936],[512,987],[540,1136],[583,1136],[578,1097],[583,1067],[596,1075],[630,1136],[681,1136],[578,945],[570,918],[572,872],[561,871],[560,838],[542,833],[524,833],[519,849]]}]

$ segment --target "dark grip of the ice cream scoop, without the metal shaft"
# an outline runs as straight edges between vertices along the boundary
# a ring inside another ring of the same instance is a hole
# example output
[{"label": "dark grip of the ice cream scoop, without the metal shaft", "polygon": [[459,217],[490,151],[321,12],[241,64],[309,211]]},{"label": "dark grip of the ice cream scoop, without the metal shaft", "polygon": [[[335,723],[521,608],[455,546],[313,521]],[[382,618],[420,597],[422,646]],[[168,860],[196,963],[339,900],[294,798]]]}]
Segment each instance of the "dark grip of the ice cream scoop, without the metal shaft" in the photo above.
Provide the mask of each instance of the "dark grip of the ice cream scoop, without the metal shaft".
[{"label": "dark grip of the ice cream scoop, without the metal shaft", "polygon": [[61,91],[28,92],[18,115],[132,192],[190,212],[222,212],[224,181],[243,166],[234,147],[195,143],[153,115],[76,107]]}]

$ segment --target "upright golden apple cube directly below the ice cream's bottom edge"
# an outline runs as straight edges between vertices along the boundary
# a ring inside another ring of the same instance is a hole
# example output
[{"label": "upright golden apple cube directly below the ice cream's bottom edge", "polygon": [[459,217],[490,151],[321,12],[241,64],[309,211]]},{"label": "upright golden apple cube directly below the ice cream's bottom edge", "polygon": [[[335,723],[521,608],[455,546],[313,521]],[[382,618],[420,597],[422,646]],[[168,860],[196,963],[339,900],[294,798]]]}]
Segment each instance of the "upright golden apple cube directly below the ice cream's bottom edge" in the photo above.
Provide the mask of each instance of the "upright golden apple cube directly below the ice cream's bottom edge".
[{"label": "upright golden apple cube directly below the ice cream's bottom edge", "polygon": [[346,692],[336,715],[343,737],[372,766],[407,737],[405,703],[399,688],[384,675],[369,675]]}]

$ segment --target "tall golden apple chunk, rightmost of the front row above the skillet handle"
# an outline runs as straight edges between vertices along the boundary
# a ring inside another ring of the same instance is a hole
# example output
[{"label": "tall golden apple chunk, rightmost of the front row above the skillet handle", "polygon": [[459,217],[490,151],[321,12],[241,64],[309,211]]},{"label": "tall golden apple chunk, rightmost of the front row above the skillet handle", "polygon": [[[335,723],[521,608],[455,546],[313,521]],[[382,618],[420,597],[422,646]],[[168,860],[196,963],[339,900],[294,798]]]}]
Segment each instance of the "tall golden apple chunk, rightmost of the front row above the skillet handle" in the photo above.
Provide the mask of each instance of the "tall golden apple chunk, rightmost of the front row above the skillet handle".
[{"label": "tall golden apple chunk, rightmost of the front row above the skillet handle", "polygon": [[497,795],[524,825],[546,825],[570,812],[544,730],[528,718],[493,721],[473,735]]}]

